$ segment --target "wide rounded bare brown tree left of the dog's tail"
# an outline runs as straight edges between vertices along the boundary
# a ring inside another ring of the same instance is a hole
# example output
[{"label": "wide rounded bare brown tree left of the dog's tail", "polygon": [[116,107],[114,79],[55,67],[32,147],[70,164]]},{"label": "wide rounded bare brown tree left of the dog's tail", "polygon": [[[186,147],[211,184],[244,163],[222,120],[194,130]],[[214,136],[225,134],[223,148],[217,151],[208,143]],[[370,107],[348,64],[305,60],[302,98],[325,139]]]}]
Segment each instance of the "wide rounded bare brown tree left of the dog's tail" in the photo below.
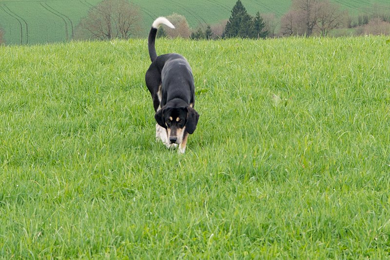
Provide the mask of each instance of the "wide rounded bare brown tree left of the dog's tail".
[{"label": "wide rounded bare brown tree left of the dog's tail", "polygon": [[127,0],[103,0],[78,25],[77,38],[128,39],[140,31],[139,7]]}]

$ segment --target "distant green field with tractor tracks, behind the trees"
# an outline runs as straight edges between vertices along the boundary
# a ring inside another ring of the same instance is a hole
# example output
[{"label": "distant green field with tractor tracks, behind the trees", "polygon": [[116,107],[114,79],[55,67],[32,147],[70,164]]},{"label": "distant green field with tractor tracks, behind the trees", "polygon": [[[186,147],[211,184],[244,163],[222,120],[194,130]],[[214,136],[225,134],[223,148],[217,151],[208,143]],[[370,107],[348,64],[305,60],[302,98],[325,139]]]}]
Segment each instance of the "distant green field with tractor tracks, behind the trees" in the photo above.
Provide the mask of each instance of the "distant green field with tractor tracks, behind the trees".
[{"label": "distant green field with tractor tracks, behind the trees", "polygon": [[[100,0],[3,0],[0,2],[0,26],[5,30],[7,44],[37,44],[66,41],[88,10]],[[356,14],[374,2],[388,4],[388,0],[334,0]],[[144,33],[158,16],[176,12],[184,15],[190,26],[215,23],[228,19],[236,0],[134,0],[141,7]],[[243,0],[249,13],[274,13],[281,17],[291,0]],[[390,9],[389,9],[390,11]]]}]

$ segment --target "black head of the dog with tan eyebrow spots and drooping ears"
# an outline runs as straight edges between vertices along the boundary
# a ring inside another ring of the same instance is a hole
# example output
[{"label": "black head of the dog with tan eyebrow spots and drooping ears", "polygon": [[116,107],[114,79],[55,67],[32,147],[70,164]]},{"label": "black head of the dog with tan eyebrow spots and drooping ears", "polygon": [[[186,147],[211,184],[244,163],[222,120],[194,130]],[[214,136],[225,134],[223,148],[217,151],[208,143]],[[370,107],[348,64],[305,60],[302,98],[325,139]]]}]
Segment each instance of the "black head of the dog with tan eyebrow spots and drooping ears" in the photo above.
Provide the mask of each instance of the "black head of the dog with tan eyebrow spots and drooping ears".
[{"label": "black head of the dog with tan eyebrow spots and drooping ears", "polygon": [[157,123],[168,131],[171,144],[181,144],[185,131],[193,133],[198,123],[199,114],[190,106],[163,106],[156,112]]}]

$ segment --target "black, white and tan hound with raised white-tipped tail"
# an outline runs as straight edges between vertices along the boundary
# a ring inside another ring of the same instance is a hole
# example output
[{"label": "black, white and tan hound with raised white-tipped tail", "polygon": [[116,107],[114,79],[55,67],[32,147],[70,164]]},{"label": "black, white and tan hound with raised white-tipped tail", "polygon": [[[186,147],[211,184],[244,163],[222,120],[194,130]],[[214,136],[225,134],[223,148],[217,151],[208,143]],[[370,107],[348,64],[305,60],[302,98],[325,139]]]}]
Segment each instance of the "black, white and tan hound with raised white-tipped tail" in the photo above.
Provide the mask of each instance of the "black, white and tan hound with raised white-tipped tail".
[{"label": "black, white and tan hound with raised white-tipped tail", "polygon": [[194,109],[194,76],[185,57],[176,53],[157,56],[155,41],[161,24],[175,28],[164,17],[153,22],[148,37],[152,64],[146,71],[145,81],[156,112],[156,140],[161,139],[167,148],[179,145],[179,152],[184,153],[188,134],[194,133],[199,120]]}]

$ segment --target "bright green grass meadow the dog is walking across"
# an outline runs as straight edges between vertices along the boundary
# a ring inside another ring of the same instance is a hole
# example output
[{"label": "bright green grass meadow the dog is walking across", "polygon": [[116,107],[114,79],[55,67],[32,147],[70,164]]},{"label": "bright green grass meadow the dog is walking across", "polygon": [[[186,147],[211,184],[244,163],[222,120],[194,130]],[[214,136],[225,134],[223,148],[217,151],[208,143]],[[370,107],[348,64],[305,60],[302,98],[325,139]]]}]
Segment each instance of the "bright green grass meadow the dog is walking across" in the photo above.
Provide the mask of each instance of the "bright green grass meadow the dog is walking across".
[{"label": "bright green grass meadow the dog is walking across", "polygon": [[146,40],[0,47],[0,256],[389,258],[387,40],[159,39],[195,75],[184,155]]}]

